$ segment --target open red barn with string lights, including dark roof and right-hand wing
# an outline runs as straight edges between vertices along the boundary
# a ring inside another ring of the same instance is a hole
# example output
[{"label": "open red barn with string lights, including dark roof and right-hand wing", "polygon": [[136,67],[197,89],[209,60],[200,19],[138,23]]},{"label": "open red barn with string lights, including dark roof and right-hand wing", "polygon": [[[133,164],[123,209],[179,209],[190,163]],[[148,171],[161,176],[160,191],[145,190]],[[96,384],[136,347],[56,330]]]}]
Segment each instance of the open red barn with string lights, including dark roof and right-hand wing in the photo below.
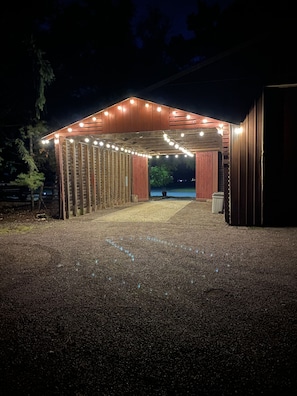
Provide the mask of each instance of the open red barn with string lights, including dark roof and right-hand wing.
[{"label": "open red barn with string lights, including dark roof and right-hand wing", "polygon": [[229,225],[296,226],[297,61],[284,56],[282,42],[248,43],[45,136],[60,217],[148,200],[149,158],[186,153],[196,199],[223,186]]}]

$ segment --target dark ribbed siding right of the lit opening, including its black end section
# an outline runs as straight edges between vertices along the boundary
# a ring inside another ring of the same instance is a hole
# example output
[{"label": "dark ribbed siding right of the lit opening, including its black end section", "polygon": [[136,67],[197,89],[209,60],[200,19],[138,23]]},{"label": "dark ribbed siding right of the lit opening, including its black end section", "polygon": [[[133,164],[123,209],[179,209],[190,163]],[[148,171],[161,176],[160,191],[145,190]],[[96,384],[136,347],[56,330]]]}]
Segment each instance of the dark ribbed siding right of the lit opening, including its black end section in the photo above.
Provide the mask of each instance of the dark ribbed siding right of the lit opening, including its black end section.
[{"label": "dark ribbed siding right of the lit opening, including its black end section", "polygon": [[296,226],[297,88],[265,88],[231,131],[230,222],[237,226]]}]

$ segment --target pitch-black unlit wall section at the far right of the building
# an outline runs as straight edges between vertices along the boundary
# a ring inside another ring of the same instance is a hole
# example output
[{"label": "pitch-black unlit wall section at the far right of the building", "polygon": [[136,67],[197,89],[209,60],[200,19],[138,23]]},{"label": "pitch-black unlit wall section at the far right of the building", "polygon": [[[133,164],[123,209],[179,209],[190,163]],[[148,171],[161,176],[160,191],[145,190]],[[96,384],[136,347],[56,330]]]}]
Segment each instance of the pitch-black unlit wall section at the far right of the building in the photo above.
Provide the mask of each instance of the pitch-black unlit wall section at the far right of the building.
[{"label": "pitch-black unlit wall section at the far right of the building", "polygon": [[297,88],[265,89],[263,224],[297,226]]}]

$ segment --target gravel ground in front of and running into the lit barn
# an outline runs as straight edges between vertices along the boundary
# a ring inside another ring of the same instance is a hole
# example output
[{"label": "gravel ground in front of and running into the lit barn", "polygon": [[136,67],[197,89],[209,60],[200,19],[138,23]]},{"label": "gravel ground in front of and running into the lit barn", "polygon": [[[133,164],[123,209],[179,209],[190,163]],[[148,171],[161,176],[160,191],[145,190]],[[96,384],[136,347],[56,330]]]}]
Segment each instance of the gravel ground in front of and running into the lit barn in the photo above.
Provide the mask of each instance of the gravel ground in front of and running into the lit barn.
[{"label": "gravel ground in front of and running into the lit barn", "polygon": [[2,396],[296,395],[297,228],[190,200],[37,220],[0,224]]}]

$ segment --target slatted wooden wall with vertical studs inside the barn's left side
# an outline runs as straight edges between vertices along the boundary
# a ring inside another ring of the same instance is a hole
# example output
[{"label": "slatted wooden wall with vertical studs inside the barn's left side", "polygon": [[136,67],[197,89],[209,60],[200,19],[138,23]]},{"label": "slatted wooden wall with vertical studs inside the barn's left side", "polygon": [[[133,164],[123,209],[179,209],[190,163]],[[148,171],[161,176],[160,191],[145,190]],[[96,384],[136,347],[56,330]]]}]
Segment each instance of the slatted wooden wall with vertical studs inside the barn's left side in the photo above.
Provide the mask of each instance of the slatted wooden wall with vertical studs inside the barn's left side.
[{"label": "slatted wooden wall with vertical studs inside the barn's left side", "polygon": [[60,141],[62,207],[69,218],[131,201],[131,156],[82,142]]}]

